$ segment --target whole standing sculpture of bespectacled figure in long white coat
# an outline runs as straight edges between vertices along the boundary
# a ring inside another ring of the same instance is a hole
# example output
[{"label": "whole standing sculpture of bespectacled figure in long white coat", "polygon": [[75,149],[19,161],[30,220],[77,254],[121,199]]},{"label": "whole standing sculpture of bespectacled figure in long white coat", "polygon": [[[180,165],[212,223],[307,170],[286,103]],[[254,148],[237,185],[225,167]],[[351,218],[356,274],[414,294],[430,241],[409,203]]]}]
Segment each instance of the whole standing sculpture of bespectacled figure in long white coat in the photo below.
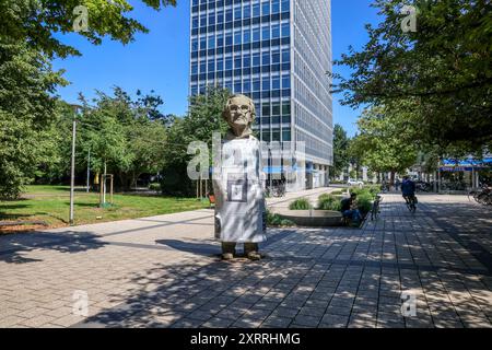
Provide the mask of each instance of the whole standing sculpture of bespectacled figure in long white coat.
[{"label": "whole standing sculpture of bespectacled figure in long white coat", "polygon": [[266,208],[260,143],[253,136],[255,104],[244,95],[229,98],[223,118],[230,129],[221,144],[221,163],[215,170],[215,238],[222,242],[222,258],[234,258],[237,243],[258,260],[258,243],[266,237]]}]

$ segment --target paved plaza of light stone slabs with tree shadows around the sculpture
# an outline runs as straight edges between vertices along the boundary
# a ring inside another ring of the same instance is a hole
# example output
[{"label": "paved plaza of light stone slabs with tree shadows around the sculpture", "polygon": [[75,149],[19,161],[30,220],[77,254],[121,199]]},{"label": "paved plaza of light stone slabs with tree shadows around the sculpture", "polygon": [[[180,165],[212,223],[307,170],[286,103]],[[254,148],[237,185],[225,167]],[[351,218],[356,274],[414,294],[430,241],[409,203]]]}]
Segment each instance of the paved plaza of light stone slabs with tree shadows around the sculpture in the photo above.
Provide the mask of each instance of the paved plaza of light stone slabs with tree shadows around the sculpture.
[{"label": "paved plaza of light stone slabs with tree shadows around the sculpture", "polygon": [[385,195],[362,230],[270,229],[256,262],[220,260],[212,210],[0,236],[0,326],[491,327],[491,208],[419,199]]}]

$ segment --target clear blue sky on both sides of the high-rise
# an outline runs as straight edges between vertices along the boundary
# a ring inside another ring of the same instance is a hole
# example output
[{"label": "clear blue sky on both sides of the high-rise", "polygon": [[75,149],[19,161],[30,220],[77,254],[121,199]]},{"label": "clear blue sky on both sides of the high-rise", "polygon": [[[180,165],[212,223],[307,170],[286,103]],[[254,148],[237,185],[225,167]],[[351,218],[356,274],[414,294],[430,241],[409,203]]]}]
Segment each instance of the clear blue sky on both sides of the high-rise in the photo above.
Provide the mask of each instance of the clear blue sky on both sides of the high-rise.
[{"label": "clear blue sky on both sides of the high-rise", "polygon": [[[377,21],[376,10],[370,8],[371,0],[331,0],[333,58],[347,51],[349,45],[360,48],[367,36],[365,23]],[[58,59],[56,69],[66,69],[65,78],[71,82],[60,88],[58,94],[68,102],[75,102],[79,92],[87,97],[94,91],[110,92],[118,85],[134,93],[154,90],[164,100],[162,110],[184,115],[187,108],[189,66],[189,0],[178,0],[176,8],[155,12],[141,4],[134,5],[133,15],[149,30],[138,34],[136,40],[124,46],[113,40],[93,46],[78,35],[67,35],[62,42],[75,46],[82,57]],[[335,72],[348,73],[335,67]],[[340,106],[333,98],[335,122],[339,122],[349,135],[356,131],[354,125],[359,110]]]}]

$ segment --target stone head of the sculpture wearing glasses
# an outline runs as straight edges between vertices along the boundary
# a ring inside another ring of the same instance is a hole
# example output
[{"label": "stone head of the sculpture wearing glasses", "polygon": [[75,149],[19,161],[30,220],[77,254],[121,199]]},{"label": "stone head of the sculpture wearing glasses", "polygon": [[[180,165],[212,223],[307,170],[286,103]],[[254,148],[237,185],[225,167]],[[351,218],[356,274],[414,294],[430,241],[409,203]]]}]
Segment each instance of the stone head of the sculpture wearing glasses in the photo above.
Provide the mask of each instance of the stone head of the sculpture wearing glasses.
[{"label": "stone head of the sculpture wearing glasses", "polygon": [[236,138],[248,137],[256,117],[255,104],[245,95],[233,95],[227,100],[222,116]]}]

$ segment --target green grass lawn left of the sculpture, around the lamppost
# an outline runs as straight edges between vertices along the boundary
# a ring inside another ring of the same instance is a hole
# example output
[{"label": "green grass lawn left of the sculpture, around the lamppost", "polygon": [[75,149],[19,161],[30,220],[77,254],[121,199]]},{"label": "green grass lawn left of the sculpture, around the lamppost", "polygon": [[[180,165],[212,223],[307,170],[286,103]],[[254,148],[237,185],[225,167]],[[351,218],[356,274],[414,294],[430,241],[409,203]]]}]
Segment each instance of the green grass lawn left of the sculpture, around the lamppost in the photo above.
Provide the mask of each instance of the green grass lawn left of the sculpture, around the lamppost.
[{"label": "green grass lawn left of the sculpture, around the lamppost", "polygon": [[[109,200],[109,195],[106,200]],[[97,205],[98,194],[86,194],[82,189],[75,191],[75,224],[152,217],[209,207],[208,200],[144,195],[115,195],[112,208],[97,208]],[[66,226],[69,209],[70,187],[27,186],[20,200],[0,201],[0,221],[35,220],[46,222],[49,228]],[[5,230],[17,231],[19,228],[0,226],[0,232]]]}]

